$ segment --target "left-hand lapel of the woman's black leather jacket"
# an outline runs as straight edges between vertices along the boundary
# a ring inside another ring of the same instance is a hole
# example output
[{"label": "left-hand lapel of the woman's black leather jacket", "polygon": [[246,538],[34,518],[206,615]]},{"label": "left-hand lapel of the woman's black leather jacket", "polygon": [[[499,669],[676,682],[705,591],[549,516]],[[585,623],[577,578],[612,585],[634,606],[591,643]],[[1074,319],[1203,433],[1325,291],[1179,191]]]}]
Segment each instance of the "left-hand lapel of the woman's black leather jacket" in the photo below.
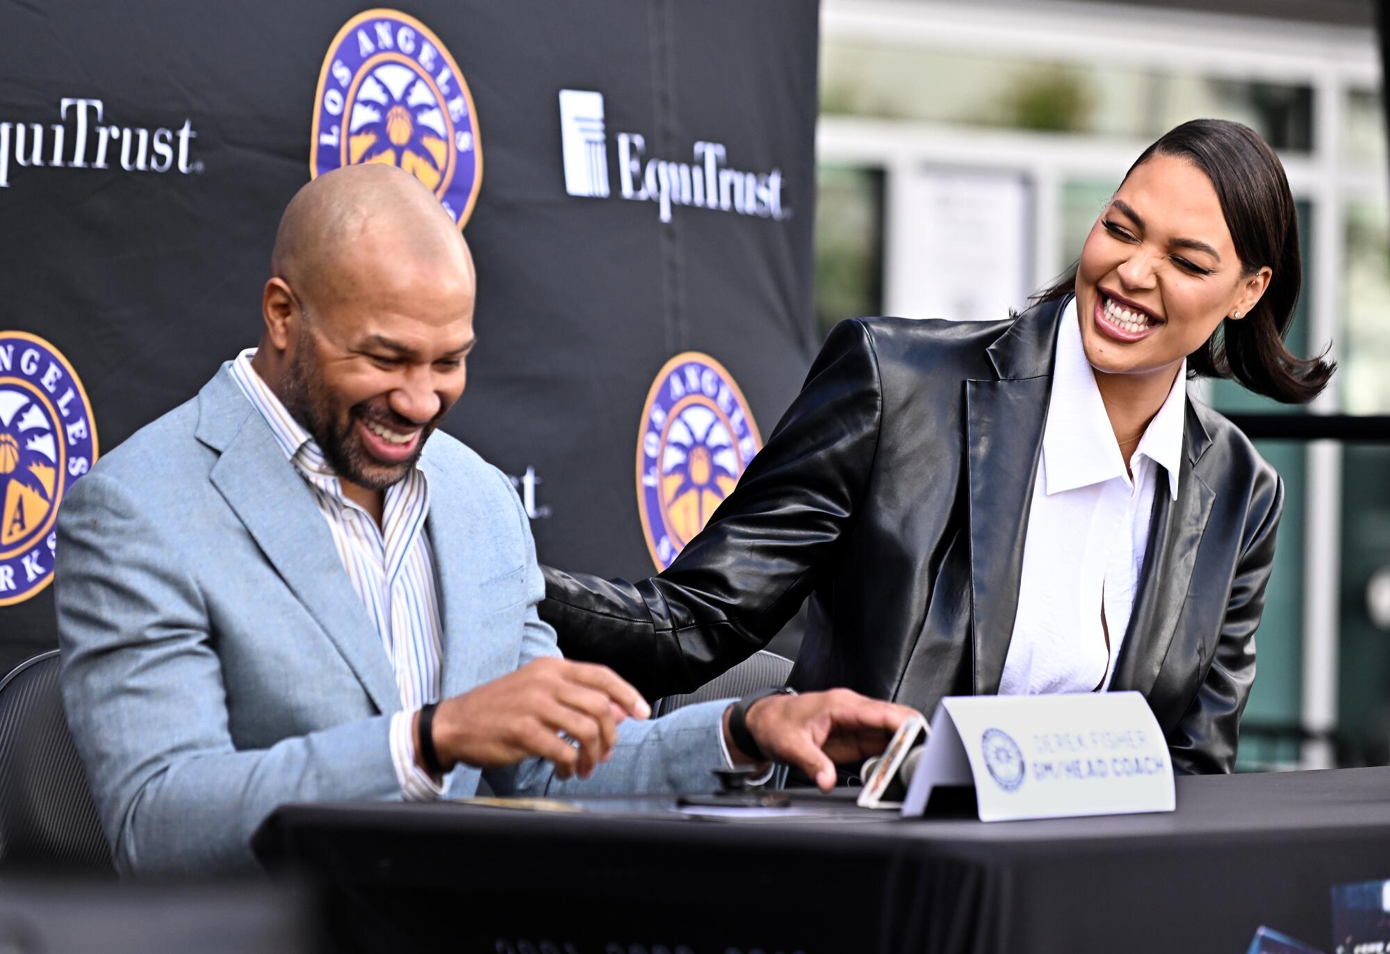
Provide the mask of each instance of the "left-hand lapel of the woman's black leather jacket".
[{"label": "left-hand lapel of the woman's black leather jacket", "polygon": [[998,381],[966,381],[973,690],[994,694],[1013,637],[1033,483],[1042,451],[1058,317],[1029,309],[990,346]]}]

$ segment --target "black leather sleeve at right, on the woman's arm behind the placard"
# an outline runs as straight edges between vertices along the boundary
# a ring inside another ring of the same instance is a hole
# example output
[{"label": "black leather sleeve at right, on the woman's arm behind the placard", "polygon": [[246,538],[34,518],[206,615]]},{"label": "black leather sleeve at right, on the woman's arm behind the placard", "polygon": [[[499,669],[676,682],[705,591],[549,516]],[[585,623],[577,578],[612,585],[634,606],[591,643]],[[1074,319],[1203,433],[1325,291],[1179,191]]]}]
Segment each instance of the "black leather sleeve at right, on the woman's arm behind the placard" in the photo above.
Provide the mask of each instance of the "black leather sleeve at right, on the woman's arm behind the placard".
[{"label": "black leather sleeve at right, on the woman's arm behind the placard", "polygon": [[1255,627],[1265,611],[1265,584],[1275,562],[1275,534],[1284,509],[1284,483],[1273,474],[1265,492],[1255,492],[1251,513],[1264,517],[1236,566],[1216,652],[1191,706],[1169,733],[1168,748],[1179,775],[1229,773],[1236,766],[1240,713],[1255,681]]}]

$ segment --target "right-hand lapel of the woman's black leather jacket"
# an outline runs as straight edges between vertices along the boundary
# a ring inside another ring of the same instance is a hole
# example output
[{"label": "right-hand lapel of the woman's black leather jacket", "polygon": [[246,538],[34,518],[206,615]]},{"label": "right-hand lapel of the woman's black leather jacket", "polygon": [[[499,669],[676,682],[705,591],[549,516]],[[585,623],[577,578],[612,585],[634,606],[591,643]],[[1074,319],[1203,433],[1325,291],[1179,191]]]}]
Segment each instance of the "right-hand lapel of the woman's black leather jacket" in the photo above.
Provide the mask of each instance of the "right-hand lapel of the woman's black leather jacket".
[{"label": "right-hand lapel of the woman's black leather jacket", "polygon": [[1158,502],[1150,526],[1138,597],[1111,680],[1112,691],[1137,690],[1150,694],[1187,602],[1197,547],[1216,501],[1216,492],[1197,473],[1197,462],[1211,446],[1211,439],[1190,401],[1183,445],[1176,501],[1170,501],[1166,492],[1168,474],[1155,476],[1159,481],[1155,488]]}]

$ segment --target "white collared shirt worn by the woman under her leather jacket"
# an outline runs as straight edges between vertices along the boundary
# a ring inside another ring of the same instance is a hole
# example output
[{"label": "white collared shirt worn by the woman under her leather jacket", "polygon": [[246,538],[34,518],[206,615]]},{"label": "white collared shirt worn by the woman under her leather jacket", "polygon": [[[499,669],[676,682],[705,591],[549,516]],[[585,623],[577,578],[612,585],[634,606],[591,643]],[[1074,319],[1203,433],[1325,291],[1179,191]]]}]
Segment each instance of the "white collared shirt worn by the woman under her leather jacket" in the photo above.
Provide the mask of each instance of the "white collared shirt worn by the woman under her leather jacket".
[{"label": "white collared shirt worn by the woman under her leather jacket", "polygon": [[1186,381],[1184,360],[1130,458],[1131,480],[1086,360],[1076,299],[1068,303],[1001,695],[1109,688],[1144,569],[1159,466],[1163,490],[1177,499]]}]

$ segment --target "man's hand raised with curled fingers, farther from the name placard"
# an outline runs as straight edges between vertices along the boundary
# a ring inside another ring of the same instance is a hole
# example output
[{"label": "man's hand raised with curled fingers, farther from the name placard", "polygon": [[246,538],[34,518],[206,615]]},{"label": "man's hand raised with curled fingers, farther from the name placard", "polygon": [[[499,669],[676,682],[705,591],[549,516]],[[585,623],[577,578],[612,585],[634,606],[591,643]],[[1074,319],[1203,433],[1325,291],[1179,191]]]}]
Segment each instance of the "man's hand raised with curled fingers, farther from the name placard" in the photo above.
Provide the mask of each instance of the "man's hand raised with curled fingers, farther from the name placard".
[{"label": "man's hand raised with curled fingers, farther from the name placard", "polygon": [[495,769],[539,755],[559,777],[587,779],[612,755],[619,723],[651,713],[641,693],[607,666],[537,659],[442,701],[434,743],[445,769],[457,762]]}]

